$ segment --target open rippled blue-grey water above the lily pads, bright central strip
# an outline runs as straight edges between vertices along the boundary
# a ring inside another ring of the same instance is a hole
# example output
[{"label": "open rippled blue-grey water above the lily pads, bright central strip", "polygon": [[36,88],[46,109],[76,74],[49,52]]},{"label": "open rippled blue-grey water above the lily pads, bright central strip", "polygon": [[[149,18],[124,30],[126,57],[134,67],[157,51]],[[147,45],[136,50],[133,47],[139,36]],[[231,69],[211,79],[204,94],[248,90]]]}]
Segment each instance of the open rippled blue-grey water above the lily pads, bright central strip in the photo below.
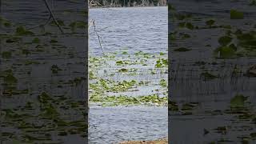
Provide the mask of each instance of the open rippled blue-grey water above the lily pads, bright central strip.
[{"label": "open rippled blue-grey water above the lily pads, bright central strip", "polygon": [[[129,49],[150,54],[167,51],[167,7],[90,9],[105,52]],[[89,20],[89,22],[90,22]],[[90,27],[90,54],[102,54],[98,36]]]}]

